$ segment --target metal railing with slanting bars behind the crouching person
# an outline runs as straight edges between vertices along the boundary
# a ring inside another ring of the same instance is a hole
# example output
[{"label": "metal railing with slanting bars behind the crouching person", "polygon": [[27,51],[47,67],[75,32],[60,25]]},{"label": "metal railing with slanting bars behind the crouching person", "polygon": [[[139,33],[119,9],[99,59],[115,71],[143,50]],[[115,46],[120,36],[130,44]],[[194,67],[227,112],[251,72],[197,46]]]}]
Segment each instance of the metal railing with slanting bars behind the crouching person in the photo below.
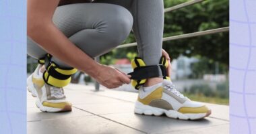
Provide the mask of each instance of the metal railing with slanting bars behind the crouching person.
[{"label": "metal railing with slanting bars behind the crouching person", "polygon": [[[187,1],[185,3],[181,3],[179,5],[175,5],[173,7],[168,7],[166,9],[164,9],[164,13],[170,12],[170,11],[174,11],[177,9],[181,9],[183,7],[187,7],[189,5],[194,5],[196,3],[201,3],[202,1],[205,0],[191,0],[191,1]],[[217,34],[217,33],[221,33],[221,32],[226,32],[229,31],[229,27],[221,27],[221,28],[217,28],[217,29],[210,29],[210,30],[205,30],[205,31],[197,31],[194,33],[190,33],[190,34],[182,34],[179,36],[170,36],[170,37],[166,37],[163,38],[163,42],[169,41],[169,40],[179,40],[179,39],[184,39],[184,38],[193,38],[193,37],[197,37],[197,36],[205,36],[205,35],[210,35],[210,34]],[[119,48],[127,48],[127,47],[131,47],[131,46],[137,46],[136,42],[130,43],[130,44],[123,44],[121,46],[118,46],[115,49],[119,49]],[[97,62],[100,62],[100,57],[96,57],[95,60]],[[98,82],[95,83],[95,90],[98,91],[100,90],[100,84]]]}]

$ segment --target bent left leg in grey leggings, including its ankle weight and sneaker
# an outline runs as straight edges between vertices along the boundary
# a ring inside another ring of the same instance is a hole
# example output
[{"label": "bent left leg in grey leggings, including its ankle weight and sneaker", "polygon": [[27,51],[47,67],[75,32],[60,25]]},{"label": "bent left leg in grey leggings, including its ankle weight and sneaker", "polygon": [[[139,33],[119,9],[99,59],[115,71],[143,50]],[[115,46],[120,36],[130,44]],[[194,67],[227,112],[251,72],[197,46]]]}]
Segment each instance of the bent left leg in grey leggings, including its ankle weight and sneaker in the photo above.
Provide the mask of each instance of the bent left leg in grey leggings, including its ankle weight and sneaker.
[{"label": "bent left leg in grey leggings, including its ankle weight and sneaker", "polygon": [[[127,9],[119,5],[80,3],[57,7],[53,21],[75,46],[94,58],[112,50],[127,38],[131,31],[133,17]],[[47,53],[29,37],[27,49],[28,55],[36,59],[42,58]],[[46,73],[50,73],[53,70],[44,71],[44,74],[40,74],[40,66],[38,66],[27,79],[28,89],[30,88],[32,94],[35,92],[34,96],[38,97],[36,105],[41,111],[71,111],[71,103],[65,100],[62,88],[69,83],[70,77],[65,80],[58,78],[74,71],[73,69],[67,69],[70,66],[67,66],[54,56],[52,60],[60,66],[60,68],[55,66],[54,70],[57,67],[61,72],[68,71],[68,73],[55,73],[55,77],[51,77],[52,86],[50,86],[49,76],[51,75]],[[51,65],[49,64],[47,70],[50,70]],[[56,75],[59,76],[56,77]],[[47,84],[44,84],[45,82]]]}]

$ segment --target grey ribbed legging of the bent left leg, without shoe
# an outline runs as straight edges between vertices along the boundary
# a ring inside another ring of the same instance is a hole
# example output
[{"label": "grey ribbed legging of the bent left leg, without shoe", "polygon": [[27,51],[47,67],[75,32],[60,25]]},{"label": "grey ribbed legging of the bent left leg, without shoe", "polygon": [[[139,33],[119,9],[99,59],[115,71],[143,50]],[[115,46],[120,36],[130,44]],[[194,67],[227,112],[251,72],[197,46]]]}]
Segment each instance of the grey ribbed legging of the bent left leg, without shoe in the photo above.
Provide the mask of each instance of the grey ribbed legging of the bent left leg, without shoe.
[{"label": "grey ribbed legging of the bent left leg, without shoe", "polygon": [[[57,27],[78,48],[94,58],[120,45],[133,24],[131,13],[119,5],[79,3],[57,7],[53,16]],[[28,38],[28,55],[41,58],[46,52]],[[53,57],[61,67],[69,67]]]}]

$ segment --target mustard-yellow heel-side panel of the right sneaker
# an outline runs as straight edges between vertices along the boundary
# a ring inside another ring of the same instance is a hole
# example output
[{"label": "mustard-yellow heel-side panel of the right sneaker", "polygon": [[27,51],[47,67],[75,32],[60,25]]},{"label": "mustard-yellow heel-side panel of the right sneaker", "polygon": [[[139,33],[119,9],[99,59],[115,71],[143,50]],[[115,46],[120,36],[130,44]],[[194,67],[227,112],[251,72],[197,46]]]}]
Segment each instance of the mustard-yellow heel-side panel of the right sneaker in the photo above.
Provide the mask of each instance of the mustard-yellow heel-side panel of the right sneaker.
[{"label": "mustard-yellow heel-side panel of the right sneaker", "polygon": [[149,105],[150,102],[152,100],[155,100],[155,99],[160,99],[162,98],[162,86],[160,86],[159,88],[156,88],[156,90],[154,90],[153,92],[151,92],[148,96],[146,96],[145,98],[137,98],[137,100],[140,102],[140,103],[143,103],[143,105]]}]

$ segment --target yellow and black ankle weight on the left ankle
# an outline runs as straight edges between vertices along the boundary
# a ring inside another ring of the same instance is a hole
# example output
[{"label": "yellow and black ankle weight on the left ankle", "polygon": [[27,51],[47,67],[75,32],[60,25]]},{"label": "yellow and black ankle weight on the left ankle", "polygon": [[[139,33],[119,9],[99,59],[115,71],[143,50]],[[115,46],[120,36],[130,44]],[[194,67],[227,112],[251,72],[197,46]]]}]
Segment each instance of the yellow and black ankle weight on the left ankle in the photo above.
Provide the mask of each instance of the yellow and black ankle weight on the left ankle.
[{"label": "yellow and black ankle weight on the left ankle", "polygon": [[51,62],[51,56],[47,56],[44,60],[46,71],[44,71],[44,82],[52,86],[67,86],[71,81],[71,75],[77,72],[75,68],[61,68],[55,62]]}]

